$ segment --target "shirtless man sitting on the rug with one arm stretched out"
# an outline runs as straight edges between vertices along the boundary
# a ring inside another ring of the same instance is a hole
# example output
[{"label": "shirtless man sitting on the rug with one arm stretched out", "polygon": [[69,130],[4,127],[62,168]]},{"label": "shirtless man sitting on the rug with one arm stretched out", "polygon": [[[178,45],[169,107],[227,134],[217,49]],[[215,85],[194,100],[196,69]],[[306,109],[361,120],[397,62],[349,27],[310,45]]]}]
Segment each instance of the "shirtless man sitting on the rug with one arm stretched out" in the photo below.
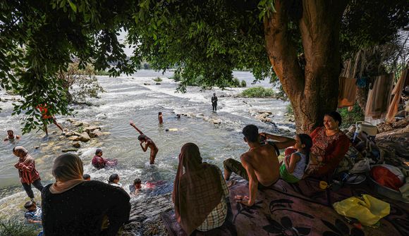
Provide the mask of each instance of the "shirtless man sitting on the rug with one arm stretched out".
[{"label": "shirtless man sitting on the rug with one arm stretched out", "polygon": [[[279,180],[280,164],[276,148],[291,147],[295,144],[295,140],[266,133],[259,135],[259,130],[255,125],[246,125],[243,128],[243,135],[250,149],[240,156],[241,163],[234,159],[224,161],[224,179],[227,181],[234,172],[248,180],[250,197],[237,195],[235,199],[241,204],[252,206],[257,196],[257,187],[269,187]],[[278,142],[260,143],[260,136]]]}]

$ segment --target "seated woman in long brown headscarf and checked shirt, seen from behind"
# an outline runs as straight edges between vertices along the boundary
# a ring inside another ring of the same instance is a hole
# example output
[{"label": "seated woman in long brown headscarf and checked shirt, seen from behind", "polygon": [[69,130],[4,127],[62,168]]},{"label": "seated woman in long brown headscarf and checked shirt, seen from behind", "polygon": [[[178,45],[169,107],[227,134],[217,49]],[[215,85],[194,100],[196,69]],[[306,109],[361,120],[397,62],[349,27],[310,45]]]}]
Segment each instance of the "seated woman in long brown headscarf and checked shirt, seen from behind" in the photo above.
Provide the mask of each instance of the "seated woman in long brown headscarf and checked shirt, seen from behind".
[{"label": "seated woman in long brown headscarf and checked shirt, seen from behind", "polygon": [[227,216],[228,188],[221,171],[203,163],[199,147],[183,145],[173,185],[173,203],[178,223],[190,235],[223,225]]}]

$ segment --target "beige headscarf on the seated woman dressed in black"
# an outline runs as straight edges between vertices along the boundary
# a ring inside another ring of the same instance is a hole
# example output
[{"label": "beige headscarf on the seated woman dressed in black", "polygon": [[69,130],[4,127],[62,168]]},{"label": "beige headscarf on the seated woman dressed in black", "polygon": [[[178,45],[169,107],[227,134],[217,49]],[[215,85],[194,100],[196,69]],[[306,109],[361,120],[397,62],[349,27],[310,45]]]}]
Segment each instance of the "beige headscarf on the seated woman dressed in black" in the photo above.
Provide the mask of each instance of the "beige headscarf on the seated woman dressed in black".
[{"label": "beige headscarf on the seated woman dressed in black", "polygon": [[83,161],[74,154],[62,154],[54,161],[53,175],[56,182],[49,188],[53,194],[60,194],[71,190],[83,180]]}]

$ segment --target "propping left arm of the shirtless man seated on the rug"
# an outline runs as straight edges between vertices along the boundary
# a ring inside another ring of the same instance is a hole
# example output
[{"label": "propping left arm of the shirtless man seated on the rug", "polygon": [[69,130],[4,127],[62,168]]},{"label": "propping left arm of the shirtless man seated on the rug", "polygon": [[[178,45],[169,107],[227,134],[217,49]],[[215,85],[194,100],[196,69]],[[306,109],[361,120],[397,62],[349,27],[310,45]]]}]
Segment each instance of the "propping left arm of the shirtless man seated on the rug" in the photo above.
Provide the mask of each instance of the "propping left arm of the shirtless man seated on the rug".
[{"label": "propping left arm of the shirtless man seated on the rug", "polygon": [[247,175],[248,175],[248,189],[249,189],[249,196],[236,196],[235,199],[237,202],[244,204],[246,206],[252,206],[255,203],[255,199],[257,197],[257,187],[258,187],[258,180],[257,176],[255,175],[255,170],[252,168],[251,164],[248,163],[245,159],[247,156],[245,154],[241,155],[240,160],[245,168]]}]

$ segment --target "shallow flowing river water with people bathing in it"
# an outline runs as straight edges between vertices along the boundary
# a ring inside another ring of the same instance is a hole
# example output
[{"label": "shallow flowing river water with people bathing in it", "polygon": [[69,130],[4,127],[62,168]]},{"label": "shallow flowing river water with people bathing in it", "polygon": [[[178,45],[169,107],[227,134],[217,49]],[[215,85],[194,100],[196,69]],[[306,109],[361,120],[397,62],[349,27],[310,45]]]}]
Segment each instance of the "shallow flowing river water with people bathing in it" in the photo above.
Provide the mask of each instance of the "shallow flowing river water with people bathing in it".
[{"label": "shallow flowing river water with people bathing in it", "polygon": [[[204,161],[223,168],[223,161],[228,158],[239,159],[247,144],[243,142],[240,131],[250,123],[258,125],[264,132],[292,135],[294,126],[284,117],[286,103],[274,99],[245,99],[232,95],[243,91],[243,88],[201,91],[200,87],[188,87],[185,94],[176,93],[177,82],[168,79],[173,73],[165,74],[153,70],[140,70],[130,77],[98,77],[100,85],[106,90],[100,99],[92,99],[94,106],[73,106],[75,120],[87,121],[102,127],[102,132],[110,132],[88,143],[76,152],[84,162],[85,173],[92,180],[106,181],[112,173],[118,173],[124,189],[128,192],[135,178],[142,182],[160,181],[151,194],[171,192],[173,178],[178,166],[178,154],[186,142],[194,142],[200,147]],[[254,77],[248,72],[233,73],[239,80],[245,80],[248,87],[271,87],[262,81],[251,85]],[[152,80],[161,77],[161,85]],[[150,85],[144,85],[149,83]],[[212,113],[210,98],[216,92],[219,97],[218,111]],[[0,92],[1,98],[13,96]],[[3,99],[4,100],[4,99]],[[20,135],[21,116],[11,116],[12,101],[0,102],[3,109],[0,113],[0,132],[6,137],[6,130],[12,129]],[[164,116],[164,124],[158,125],[158,112]],[[254,118],[255,111],[271,111],[276,126],[260,122]],[[192,113],[192,117],[176,118],[176,113]],[[63,127],[71,127],[68,118],[56,116]],[[219,119],[220,124],[213,124],[209,119]],[[156,164],[149,165],[149,150],[144,153],[136,139],[138,133],[130,125],[130,120],[150,137],[159,147]],[[166,129],[176,128],[176,132]],[[78,129],[78,128],[76,128]],[[23,217],[23,204],[28,197],[18,180],[14,164],[17,157],[12,149],[17,145],[24,146],[36,160],[36,167],[43,185],[53,181],[51,167],[61,150],[71,147],[72,141],[61,135],[55,125],[49,125],[48,137],[44,132],[31,132],[17,142],[4,142],[0,148],[0,212],[5,216]],[[90,164],[96,148],[104,151],[104,158],[118,159],[118,166],[111,169],[96,170]],[[34,189],[34,188],[33,188]],[[35,189],[34,189],[35,190]],[[35,198],[40,199],[35,190]],[[149,197],[144,194],[140,197]]]}]

